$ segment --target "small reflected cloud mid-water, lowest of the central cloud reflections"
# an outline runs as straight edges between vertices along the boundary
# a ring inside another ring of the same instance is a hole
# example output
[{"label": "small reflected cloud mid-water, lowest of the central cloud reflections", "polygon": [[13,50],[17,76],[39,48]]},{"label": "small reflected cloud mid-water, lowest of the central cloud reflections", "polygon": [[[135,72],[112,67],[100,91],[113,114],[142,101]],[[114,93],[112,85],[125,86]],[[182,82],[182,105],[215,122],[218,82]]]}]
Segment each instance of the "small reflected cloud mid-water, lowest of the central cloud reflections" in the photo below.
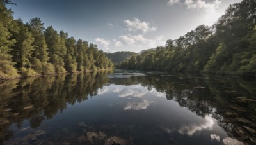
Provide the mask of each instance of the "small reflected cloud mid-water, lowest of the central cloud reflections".
[{"label": "small reflected cloud mid-water, lowest of the central cloud reflections", "polygon": [[124,107],[124,110],[136,110],[139,111],[141,109],[147,109],[150,104],[153,102],[150,102],[148,100],[143,100],[142,102],[128,102],[126,106]]}]

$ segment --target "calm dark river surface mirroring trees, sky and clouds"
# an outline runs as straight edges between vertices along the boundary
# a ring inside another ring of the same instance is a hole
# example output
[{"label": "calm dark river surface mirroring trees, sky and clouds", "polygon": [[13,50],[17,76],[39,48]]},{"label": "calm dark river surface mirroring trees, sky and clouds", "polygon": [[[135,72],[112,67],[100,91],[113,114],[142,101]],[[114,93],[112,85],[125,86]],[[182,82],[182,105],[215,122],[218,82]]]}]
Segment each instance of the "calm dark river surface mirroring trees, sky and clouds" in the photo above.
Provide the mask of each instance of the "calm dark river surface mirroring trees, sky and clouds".
[{"label": "calm dark river surface mirroring trees, sky and clouds", "polygon": [[0,144],[255,144],[256,81],[90,72],[0,84]]}]

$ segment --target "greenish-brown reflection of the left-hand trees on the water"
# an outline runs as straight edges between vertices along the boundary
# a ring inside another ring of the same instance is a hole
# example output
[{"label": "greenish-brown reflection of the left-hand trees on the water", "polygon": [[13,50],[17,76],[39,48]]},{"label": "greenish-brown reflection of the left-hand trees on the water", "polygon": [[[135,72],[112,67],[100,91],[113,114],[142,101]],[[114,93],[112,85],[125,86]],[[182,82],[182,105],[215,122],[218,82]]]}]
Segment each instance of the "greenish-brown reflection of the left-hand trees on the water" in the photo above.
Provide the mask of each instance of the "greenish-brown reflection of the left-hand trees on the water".
[{"label": "greenish-brown reflection of the left-hand trees on the water", "polygon": [[28,120],[32,128],[53,118],[68,104],[97,95],[98,88],[108,83],[109,71],[45,76],[7,81],[0,84],[0,144],[12,137],[13,123],[22,127]]}]

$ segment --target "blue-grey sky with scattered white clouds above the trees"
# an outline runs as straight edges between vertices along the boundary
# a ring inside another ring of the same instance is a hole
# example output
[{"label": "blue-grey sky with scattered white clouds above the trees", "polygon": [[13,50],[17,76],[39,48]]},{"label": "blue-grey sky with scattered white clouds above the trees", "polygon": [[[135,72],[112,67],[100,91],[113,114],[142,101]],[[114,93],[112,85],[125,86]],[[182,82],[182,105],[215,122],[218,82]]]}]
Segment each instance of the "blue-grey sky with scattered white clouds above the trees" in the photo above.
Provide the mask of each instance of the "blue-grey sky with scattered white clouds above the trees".
[{"label": "blue-grey sky with scattered white clouds above the trees", "polygon": [[38,17],[68,37],[94,43],[104,52],[140,52],[164,46],[198,25],[213,25],[241,0],[13,0],[15,19]]}]

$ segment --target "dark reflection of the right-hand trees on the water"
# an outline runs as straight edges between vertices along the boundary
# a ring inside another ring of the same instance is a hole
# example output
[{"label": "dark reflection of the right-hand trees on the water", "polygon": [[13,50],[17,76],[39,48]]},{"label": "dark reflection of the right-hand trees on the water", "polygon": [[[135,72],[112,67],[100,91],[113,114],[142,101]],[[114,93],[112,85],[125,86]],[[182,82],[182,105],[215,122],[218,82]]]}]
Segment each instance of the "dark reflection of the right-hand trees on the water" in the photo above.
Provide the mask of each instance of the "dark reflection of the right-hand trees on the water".
[{"label": "dark reflection of the right-hand trees on the water", "polygon": [[[166,93],[198,116],[213,116],[230,137],[249,144],[256,142],[256,83],[243,78],[225,76],[191,76],[191,74],[146,73],[147,76],[125,78],[125,85],[134,82],[151,90]],[[124,79],[120,79],[123,80]],[[120,85],[119,79],[110,79]]]}]

